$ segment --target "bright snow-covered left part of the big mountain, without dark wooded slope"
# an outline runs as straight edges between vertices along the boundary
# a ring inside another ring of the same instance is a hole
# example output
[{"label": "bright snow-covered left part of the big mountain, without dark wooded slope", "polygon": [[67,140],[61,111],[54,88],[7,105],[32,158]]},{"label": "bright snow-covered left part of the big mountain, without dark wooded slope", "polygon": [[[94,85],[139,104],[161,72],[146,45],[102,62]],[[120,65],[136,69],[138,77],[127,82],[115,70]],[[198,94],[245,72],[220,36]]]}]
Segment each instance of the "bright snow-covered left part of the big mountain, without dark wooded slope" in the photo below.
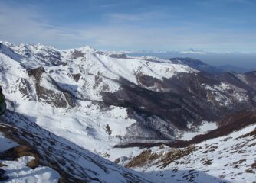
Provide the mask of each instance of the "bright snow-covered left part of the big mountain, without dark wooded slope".
[{"label": "bright snow-covered left part of the big mountain, without dark wooded slope", "polygon": [[[9,108],[36,116],[38,125],[81,146],[85,146],[81,139],[87,138],[85,147],[94,152],[111,150],[123,137],[133,138],[137,134],[126,130],[139,126],[136,111],[125,98],[113,98],[115,92],[142,86],[143,90],[157,93],[157,83],[147,86],[139,79],[152,77],[162,81],[179,72],[197,72],[148,58],[115,59],[90,47],[57,50],[42,45],[2,43],[0,54],[1,83],[10,101]],[[136,100],[133,93],[126,95]],[[141,137],[145,139],[144,136],[149,134],[145,131]]]}]

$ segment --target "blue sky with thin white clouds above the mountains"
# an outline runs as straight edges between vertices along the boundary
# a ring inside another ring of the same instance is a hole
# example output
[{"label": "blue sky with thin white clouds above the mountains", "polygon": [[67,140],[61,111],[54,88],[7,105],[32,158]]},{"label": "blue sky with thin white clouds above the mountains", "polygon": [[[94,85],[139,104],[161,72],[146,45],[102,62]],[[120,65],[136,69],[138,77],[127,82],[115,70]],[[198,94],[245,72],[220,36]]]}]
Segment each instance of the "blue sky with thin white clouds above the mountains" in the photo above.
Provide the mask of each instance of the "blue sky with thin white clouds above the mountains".
[{"label": "blue sky with thin white clouds above the mountains", "polygon": [[0,0],[0,40],[255,53],[255,0]]}]

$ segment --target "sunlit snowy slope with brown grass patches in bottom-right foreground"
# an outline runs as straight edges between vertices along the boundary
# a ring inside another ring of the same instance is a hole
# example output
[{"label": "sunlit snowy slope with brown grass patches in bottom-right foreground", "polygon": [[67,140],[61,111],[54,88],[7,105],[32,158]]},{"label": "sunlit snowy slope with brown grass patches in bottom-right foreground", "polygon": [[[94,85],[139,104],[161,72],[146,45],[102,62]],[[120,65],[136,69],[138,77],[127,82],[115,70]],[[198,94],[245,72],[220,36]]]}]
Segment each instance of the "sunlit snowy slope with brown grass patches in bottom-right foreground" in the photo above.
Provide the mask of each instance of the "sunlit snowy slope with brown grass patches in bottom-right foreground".
[{"label": "sunlit snowy slope with brown grass patches in bottom-right foreground", "polygon": [[144,152],[149,152],[148,158],[137,167],[133,164],[133,169],[147,172],[158,182],[254,182],[255,129],[253,124],[230,135],[181,149],[145,149]]}]

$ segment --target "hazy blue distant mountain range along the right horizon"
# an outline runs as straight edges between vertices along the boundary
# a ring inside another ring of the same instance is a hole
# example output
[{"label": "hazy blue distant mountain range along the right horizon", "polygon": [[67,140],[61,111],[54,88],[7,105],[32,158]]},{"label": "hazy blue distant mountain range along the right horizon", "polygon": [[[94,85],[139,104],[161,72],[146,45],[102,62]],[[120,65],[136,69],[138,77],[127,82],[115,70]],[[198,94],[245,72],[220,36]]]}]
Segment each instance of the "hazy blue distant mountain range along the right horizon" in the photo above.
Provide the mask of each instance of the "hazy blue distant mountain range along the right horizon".
[{"label": "hazy blue distant mountain range along the right horizon", "polygon": [[[256,70],[256,53],[215,53],[194,49],[181,51],[132,50],[120,51],[119,53],[125,53],[129,56],[156,56],[162,59],[170,59],[176,57],[192,58],[196,60],[201,60],[208,66],[215,67],[214,72],[233,71],[238,73],[245,73]],[[202,65],[202,63],[200,63],[200,65]],[[207,70],[208,69],[206,69],[205,71]]]}]

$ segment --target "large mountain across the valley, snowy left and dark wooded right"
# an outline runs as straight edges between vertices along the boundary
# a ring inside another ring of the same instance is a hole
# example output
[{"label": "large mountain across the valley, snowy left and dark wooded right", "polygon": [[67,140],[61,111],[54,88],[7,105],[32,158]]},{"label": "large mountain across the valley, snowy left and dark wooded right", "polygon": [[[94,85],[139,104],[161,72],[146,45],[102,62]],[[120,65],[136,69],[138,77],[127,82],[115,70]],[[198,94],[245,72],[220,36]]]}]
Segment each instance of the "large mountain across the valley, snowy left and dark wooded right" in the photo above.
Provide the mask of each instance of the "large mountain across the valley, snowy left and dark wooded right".
[{"label": "large mountain across the valley, snowy left and dark wooded right", "polygon": [[1,43],[0,54],[1,83],[15,111],[36,116],[59,136],[92,137],[86,147],[96,152],[102,142],[173,140],[188,125],[255,105],[254,72],[208,75],[165,59],[90,47]]}]

